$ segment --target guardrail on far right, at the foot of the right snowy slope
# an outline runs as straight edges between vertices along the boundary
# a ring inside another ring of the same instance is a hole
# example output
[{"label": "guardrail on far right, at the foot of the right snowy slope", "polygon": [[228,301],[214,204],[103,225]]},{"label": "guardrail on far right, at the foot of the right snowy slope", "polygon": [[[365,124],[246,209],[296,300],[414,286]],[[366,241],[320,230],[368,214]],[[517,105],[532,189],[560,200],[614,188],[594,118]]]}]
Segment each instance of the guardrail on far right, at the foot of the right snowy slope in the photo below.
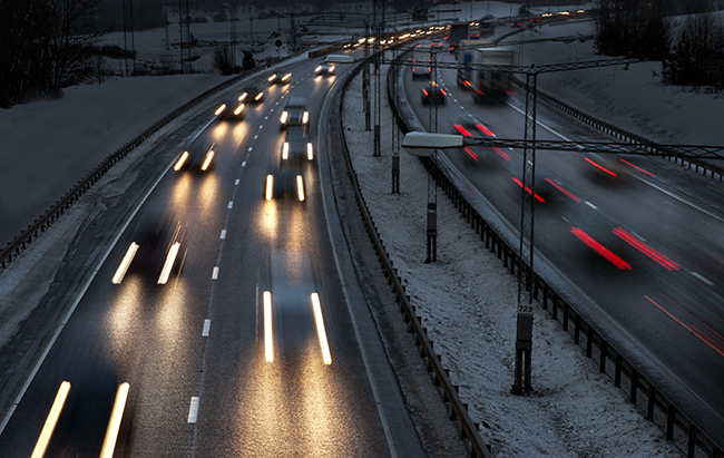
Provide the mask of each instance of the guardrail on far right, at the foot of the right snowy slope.
[{"label": "guardrail on far right, at the foot of the right snowy slope", "polygon": [[[518,87],[525,89],[526,87],[525,82],[520,81],[518,78],[515,77],[512,78],[512,80],[516,82],[516,85],[518,85]],[[545,101],[546,104],[552,106],[554,108],[559,109],[560,111],[564,111],[565,114],[573,116],[579,121],[585,123],[605,134],[608,134],[612,137],[616,137],[626,143],[630,143],[632,145],[647,145],[648,148],[654,148],[649,146],[649,145],[654,145],[655,144],[654,142],[644,138],[640,135],[616,127],[609,123],[606,123],[605,120],[597,119],[596,117],[590,116],[587,113],[569,104],[566,104],[565,101],[559,100],[540,89],[537,90],[537,97],[539,100]],[[712,178],[716,178],[716,176],[718,176],[718,181],[724,182],[724,167],[720,165],[712,164],[710,162],[701,160],[701,159],[692,159],[692,158],[684,159],[682,157],[674,155],[672,152],[665,148],[664,149],[654,148],[654,149],[661,152],[662,156],[664,156],[669,162],[674,162],[674,164],[681,163],[682,166],[687,166],[687,168],[689,169],[693,167],[694,170],[697,173],[699,172],[701,168],[704,176],[706,176],[706,173],[708,172]]]}]

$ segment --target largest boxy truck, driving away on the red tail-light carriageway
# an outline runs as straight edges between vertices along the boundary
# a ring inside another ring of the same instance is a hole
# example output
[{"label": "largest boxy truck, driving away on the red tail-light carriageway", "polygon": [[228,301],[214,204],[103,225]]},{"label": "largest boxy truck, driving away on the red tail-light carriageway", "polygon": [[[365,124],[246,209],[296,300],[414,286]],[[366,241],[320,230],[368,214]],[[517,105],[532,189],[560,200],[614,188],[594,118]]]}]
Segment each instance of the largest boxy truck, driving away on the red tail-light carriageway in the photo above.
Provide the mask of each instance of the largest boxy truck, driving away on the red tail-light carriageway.
[{"label": "largest boxy truck, driving away on the red tail-light carriageway", "polygon": [[[511,72],[508,69],[482,69],[481,66],[513,65],[515,55],[510,49],[478,48],[472,52],[470,64],[458,68],[458,85],[470,87],[476,101],[502,101],[510,91]],[[469,76],[467,79],[466,76]]]}]

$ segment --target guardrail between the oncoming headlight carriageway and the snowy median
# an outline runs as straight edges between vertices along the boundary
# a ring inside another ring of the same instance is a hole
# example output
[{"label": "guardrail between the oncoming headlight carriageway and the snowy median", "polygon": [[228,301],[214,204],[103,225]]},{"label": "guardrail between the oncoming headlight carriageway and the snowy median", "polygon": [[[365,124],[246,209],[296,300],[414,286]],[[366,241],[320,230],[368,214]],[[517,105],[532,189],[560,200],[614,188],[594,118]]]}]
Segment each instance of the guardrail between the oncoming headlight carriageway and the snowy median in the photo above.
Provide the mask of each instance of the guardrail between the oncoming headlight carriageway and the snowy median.
[{"label": "guardrail between the oncoming headlight carriageway and the snowy median", "polygon": [[[369,61],[374,61],[374,58],[375,56],[370,57]],[[342,107],[344,104],[344,94],[350,82],[362,70],[362,67],[365,64],[362,62],[362,65],[358,66],[352,72],[350,72],[342,86],[342,96],[340,97],[340,104],[337,107],[335,107],[337,110],[335,115],[339,119],[337,127],[340,129],[340,133],[344,131],[344,127],[342,126]],[[344,153],[344,162],[346,164],[348,174],[354,187],[354,195],[360,207],[360,213],[364,220],[368,233],[372,240],[372,244],[374,245],[374,250],[376,251],[378,256],[380,256],[380,262],[382,264],[384,274],[388,277],[388,283],[392,286],[392,290],[395,294],[395,301],[399,302],[400,311],[404,314],[404,321],[408,323],[408,330],[414,334],[414,343],[420,348],[420,357],[427,360],[428,372],[431,372],[433,374],[436,386],[439,386],[442,390],[443,401],[450,405],[450,419],[459,420],[462,438],[469,440],[472,449],[472,456],[490,458],[491,455],[488,446],[483,444],[482,438],[478,432],[479,425],[473,422],[470,418],[470,415],[468,413],[468,403],[462,402],[460,394],[458,393],[459,387],[450,381],[449,370],[442,366],[440,355],[434,352],[433,341],[428,338],[428,330],[422,325],[420,318],[417,315],[415,306],[412,305],[410,296],[407,295],[405,288],[398,274],[398,270],[394,269],[392,260],[390,260],[390,255],[388,254],[384,243],[380,237],[380,233],[378,232],[374,221],[372,220],[366,202],[364,201],[364,196],[360,191],[356,172],[352,166],[352,160],[350,158],[350,153],[346,146],[346,138],[343,134],[341,137],[343,143],[342,149]]]}]

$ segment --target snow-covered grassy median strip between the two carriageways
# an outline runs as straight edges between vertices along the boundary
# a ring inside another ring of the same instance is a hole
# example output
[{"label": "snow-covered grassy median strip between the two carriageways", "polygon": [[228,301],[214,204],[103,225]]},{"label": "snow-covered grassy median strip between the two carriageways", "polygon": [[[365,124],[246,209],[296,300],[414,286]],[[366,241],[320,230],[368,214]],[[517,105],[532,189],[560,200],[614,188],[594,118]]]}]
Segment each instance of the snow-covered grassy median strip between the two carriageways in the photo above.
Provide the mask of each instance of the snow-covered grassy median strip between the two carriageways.
[{"label": "snow-covered grassy median strip between the two carriageways", "polygon": [[[401,194],[391,194],[391,125],[383,100],[383,156],[372,157],[364,131],[360,77],[345,96],[343,124],[362,193],[390,257],[408,281],[429,337],[450,369],[470,415],[495,456],[679,456],[663,431],[595,363],[571,345],[558,324],[536,310],[535,392],[510,394],[513,380],[516,281],[444,198],[438,199],[438,262],[424,264],[427,173],[400,155]],[[387,152],[387,154],[385,154]]]}]

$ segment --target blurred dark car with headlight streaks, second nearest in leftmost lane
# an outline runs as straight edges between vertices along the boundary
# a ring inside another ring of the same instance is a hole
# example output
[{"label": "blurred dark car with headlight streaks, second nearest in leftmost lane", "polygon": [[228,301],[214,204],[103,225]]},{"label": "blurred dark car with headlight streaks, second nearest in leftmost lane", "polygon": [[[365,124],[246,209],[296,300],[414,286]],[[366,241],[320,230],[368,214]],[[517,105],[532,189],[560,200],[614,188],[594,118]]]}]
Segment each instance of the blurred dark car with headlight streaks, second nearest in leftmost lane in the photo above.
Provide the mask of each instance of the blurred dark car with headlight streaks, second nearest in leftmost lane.
[{"label": "blurred dark car with headlight streaks, second nearest in leftmost lane", "polygon": [[151,208],[138,220],[126,255],[111,282],[120,284],[130,270],[166,284],[172,274],[180,274],[186,257],[185,228],[168,211]]}]

